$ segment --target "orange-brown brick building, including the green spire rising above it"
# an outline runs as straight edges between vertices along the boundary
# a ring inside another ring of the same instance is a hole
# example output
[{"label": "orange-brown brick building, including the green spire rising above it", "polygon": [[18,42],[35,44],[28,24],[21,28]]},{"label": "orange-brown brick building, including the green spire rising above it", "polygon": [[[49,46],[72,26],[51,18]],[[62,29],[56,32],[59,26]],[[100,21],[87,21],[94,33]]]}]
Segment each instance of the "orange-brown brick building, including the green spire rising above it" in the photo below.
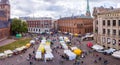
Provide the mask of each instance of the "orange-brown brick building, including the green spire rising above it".
[{"label": "orange-brown brick building, including the green spire rising above it", "polygon": [[71,16],[60,18],[58,21],[59,31],[86,34],[93,32],[93,19],[89,10],[89,1],[87,0],[86,15]]}]

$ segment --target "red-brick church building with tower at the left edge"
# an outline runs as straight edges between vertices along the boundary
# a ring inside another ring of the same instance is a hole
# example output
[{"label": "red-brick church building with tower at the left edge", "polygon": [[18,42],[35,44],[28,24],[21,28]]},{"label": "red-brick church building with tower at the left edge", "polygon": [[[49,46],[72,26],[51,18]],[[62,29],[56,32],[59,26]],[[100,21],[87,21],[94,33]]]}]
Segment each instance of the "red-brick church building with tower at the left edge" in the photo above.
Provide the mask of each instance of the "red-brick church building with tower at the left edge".
[{"label": "red-brick church building with tower at the left edge", "polygon": [[0,41],[10,35],[10,4],[9,0],[0,0]]}]

